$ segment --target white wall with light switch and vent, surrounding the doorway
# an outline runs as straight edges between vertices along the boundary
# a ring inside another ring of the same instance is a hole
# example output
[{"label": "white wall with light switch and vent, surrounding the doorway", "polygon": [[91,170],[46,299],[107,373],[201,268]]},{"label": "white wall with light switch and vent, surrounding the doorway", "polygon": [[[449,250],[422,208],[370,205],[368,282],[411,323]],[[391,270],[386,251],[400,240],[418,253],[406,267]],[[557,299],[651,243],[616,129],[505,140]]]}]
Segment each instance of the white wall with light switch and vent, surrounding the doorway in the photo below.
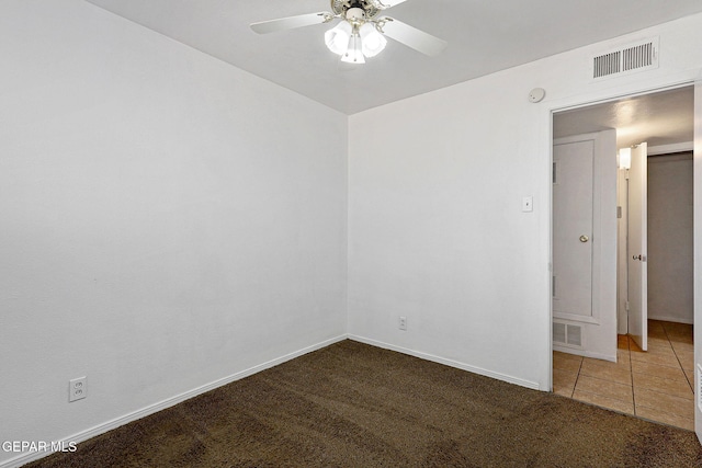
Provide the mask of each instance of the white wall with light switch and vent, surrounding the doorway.
[{"label": "white wall with light switch and vent, surrounding the doorway", "polygon": [[[591,54],[652,35],[658,69],[591,82]],[[701,41],[689,16],[351,116],[349,332],[548,389],[551,113],[689,82]]]}]

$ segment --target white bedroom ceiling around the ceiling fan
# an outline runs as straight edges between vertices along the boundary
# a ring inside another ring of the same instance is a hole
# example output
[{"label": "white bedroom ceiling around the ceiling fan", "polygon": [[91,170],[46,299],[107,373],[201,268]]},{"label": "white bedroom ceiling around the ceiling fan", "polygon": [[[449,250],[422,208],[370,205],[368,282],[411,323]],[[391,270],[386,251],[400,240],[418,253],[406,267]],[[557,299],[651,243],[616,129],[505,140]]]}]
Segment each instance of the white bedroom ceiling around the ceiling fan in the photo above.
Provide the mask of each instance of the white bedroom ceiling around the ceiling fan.
[{"label": "white bedroom ceiling around the ceiling fan", "polygon": [[329,0],[88,0],[346,114],[702,12],[700,0],[409,0],[385,13],[449,42],[426,57],[396,42],[353,70],[330,24],[268,35],[257,21],[330,11]]}]

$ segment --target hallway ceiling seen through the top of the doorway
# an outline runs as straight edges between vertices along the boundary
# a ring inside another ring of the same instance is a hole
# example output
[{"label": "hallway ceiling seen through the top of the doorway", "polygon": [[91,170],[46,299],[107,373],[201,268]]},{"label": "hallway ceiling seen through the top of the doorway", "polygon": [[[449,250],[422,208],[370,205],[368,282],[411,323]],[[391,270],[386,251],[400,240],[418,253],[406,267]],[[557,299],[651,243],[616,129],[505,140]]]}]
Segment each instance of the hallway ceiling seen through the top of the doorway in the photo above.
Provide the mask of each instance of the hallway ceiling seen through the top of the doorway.
[{"label": "hallway ceiling seen through the top of the doorway", "polygon": [[694,88],[684,87],[554,115],[554,138],[616,128],[616,146],[649,147],[693,140]]}]

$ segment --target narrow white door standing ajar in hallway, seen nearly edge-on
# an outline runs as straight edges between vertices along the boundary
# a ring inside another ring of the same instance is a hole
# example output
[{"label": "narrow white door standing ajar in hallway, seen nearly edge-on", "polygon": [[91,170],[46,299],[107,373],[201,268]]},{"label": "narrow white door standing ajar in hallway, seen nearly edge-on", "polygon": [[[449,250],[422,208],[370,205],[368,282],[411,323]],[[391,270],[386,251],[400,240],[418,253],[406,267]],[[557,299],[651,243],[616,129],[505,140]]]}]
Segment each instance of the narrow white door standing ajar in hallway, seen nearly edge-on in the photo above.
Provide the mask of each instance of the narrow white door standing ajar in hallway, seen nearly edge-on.
[{"label": "narrow white door standing ajar in hallway, seen nearly edge-on", "polygon": [[648,147],[632,149],[629,170],[629,334],[638,346],[648,349],[648,269],[647,269],[647,181]]}]

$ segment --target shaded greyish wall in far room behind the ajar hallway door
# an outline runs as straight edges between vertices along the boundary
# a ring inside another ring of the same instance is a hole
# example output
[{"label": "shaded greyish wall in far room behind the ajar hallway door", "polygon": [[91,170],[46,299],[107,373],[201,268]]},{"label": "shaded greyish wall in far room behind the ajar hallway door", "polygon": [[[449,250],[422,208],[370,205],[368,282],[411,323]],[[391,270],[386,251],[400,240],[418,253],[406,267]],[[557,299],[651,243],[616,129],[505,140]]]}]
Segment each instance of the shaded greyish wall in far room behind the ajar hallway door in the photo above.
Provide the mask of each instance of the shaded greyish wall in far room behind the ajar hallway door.
[{"label": "shaded greyish wall in far room behind the ajar hallway door", "polygon": [[648,158],[648,318],[693,323],[692,155]]}]

